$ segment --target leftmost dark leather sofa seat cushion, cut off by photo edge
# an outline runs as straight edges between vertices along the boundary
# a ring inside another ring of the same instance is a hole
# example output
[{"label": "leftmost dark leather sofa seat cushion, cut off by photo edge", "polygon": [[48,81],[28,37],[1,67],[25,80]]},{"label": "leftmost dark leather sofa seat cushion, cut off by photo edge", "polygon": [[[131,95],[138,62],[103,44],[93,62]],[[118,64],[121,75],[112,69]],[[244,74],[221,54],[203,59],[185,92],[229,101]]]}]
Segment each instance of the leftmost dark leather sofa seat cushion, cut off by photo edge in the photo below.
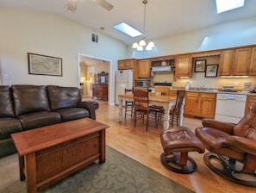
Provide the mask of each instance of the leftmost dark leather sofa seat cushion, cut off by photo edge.
[{"label": "leftmost dark leather sofa seat cushion, cut off by photo edge", "polygon": [[0,119],[0,140],[10,138],[10,134],[22,131],[22,124],[12,117]]}]

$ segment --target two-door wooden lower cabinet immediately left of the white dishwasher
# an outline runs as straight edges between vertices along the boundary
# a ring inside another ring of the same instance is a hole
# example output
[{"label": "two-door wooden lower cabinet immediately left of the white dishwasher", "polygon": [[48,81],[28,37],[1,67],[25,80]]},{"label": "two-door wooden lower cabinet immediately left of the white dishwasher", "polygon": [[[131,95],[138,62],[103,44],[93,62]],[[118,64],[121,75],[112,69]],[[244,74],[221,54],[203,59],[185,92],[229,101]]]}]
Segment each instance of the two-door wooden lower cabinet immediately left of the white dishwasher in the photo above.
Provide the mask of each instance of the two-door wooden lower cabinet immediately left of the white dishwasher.
[{"label": "two-door wooden lower cabinet immediately left of the white dishwasher", "polygon": [[215,93],[186,92],[184,115],[215,118]]}]

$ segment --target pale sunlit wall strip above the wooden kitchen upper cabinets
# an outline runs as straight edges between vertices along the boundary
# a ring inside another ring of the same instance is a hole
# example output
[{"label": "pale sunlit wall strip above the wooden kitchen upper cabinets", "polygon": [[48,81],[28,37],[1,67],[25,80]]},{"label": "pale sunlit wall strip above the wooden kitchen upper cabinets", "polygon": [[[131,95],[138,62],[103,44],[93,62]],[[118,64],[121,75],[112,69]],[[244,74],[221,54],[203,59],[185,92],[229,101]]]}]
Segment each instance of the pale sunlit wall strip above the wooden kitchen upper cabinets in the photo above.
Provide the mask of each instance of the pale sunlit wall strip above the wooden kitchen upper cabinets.
[{"label": "pale sunlit wall strip above the wooden kitchen upper cabinets", "polygon": [[253,45],[256,44],[256,17],[226,22],[153,41],[156,47],[152,51],[134,51],[128,46],[128,58],[143,59]]}]

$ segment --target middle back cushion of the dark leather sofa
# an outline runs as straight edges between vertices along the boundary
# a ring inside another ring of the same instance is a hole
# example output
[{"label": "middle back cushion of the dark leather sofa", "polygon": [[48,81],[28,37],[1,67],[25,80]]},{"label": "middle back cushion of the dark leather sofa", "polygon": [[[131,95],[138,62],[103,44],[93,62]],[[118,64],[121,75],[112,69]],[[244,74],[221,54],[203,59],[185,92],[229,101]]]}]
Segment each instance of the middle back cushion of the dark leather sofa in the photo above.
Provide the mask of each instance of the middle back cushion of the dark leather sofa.
[{"label": "middle back cushion of the dark leather sofa", "polygon": [[47,88],[43,85],[12,85],[16,115],[49,111]]}]

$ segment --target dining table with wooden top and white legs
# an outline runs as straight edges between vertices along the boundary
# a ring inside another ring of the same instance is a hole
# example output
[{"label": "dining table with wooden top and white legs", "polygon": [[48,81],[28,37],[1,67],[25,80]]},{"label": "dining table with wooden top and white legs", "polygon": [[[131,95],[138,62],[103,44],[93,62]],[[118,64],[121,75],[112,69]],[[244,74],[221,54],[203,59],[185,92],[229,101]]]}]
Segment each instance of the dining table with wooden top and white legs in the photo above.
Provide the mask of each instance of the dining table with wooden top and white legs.
[{"label": "dining table with wooden top and white legs", "polygon": [[[134,101],[134,95],[133,94],[122,94],[118,95],[119,99],[119,121],[123,120],[122,117],[122,111],[123,111],[123,101]],[[176,96],[154,96],[149,95],[148,96],[148,103],[150,105],[158,105],[162,106],[164,108],[164,123],[163,128],[168,129],[169,128],[169,120],[170,120],[170,110],[172,109],[172,106],[175,105],[177,102]],[[184,112],[184,102],[182,104],[180,115],[179,115],[179,126],[182,126],[183,123],[183,112]]]}]

